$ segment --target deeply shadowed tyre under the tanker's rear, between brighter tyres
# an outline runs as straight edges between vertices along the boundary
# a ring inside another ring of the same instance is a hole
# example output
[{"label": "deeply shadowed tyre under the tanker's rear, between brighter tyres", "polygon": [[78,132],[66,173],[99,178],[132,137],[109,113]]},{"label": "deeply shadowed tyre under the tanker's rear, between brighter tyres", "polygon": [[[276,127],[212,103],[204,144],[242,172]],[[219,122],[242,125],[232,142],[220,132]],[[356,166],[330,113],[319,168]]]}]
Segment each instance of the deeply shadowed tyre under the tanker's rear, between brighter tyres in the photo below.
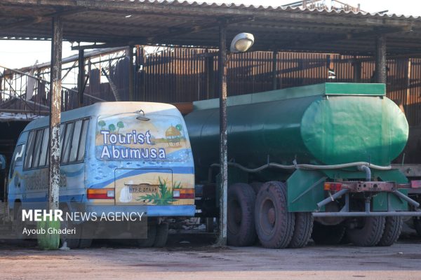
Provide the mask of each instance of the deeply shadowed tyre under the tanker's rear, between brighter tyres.
[{"label": "deeply shadowed tyre under the tanker's rear, between brighter tyres", "polygon": [[338,225],[323,225],[314,222],[312,239],[318,245],[338,245],[344,238],[345,226],[342,223]]}]

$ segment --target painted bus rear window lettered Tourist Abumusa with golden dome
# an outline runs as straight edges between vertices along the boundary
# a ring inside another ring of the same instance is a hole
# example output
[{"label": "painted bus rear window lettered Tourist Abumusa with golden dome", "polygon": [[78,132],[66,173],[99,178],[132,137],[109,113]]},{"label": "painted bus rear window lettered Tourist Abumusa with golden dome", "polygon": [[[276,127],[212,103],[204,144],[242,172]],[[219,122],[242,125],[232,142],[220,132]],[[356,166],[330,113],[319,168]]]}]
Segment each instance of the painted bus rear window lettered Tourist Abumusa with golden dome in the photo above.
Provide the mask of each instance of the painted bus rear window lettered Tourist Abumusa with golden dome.
[{"label": "painted bus rear window lettered Tourist Abumusa with golden dome", "polygon": [[187,155],[180,118],[173,116],[99,117],[95,136],[100,160],[182,160]]}]

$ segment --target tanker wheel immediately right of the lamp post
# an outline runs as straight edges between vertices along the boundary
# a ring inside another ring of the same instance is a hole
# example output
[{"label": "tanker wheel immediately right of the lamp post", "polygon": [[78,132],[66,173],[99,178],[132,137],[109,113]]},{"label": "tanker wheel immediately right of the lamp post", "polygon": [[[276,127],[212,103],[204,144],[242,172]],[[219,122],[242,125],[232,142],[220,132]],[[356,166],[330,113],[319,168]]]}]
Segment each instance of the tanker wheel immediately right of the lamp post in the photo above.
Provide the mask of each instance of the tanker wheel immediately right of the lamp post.
[{"label": "tanker wheel immediately right of the lamp post", "polygon": [[232,246],[251,246],[256,240],[254,205],[256,195],[246,183],[228,188],[227,242]]}]

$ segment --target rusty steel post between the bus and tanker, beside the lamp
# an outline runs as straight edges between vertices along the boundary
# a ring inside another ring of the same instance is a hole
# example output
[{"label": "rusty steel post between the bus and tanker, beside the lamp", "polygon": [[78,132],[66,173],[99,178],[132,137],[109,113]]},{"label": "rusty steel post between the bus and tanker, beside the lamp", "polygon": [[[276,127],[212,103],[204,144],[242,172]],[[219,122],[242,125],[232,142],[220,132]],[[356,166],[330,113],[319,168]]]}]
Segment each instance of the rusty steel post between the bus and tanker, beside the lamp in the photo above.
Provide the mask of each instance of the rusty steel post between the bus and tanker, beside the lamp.
[{"label": "rusty steel post between the bus and tanker, beside the lamp", "polygon": [[227,29],[219,28],[220,48],[218,54],[218,86],[220,95],[220,230],[218,245],[227,245],[227,197],[228,197],[228,151],[227,151]]}]

